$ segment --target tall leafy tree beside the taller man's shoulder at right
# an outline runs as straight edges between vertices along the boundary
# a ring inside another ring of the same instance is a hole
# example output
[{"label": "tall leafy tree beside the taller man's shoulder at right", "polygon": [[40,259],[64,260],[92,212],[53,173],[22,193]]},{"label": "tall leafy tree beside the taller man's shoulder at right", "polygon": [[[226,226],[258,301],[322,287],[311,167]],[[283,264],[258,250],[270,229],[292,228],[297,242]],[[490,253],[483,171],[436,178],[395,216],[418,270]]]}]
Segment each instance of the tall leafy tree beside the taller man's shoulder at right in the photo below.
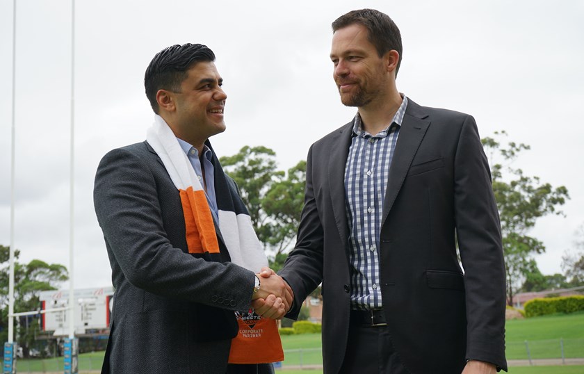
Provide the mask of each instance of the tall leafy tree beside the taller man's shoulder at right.
[{"label": "tall leafy tree beside the taller man's shoulder at right", "polygon": [[[496,136],[506,136],[505,131],[496,132]],[[495,138],[482,139],[487,154],[491,155],[491,173],[493,192],[501,217],[501,234],[503,236],[503,253],[505,255],[505,273],[507,277],[507,302],[512,304],[515,290],[530,270],[533,254],[545,252],[545,246],[537,238],[529,236],[537,218],[548,214],[562,215],[558,206],[569,199],[565,186],[553,188],[549,183],[542,183],[539,177],[528,177],[523,170],[512,168],[512,162],[520,152],[530,149],[528,145],[514,142],[506,146]],[[494,156],[499,156],[502,163],[494,163]]]}]

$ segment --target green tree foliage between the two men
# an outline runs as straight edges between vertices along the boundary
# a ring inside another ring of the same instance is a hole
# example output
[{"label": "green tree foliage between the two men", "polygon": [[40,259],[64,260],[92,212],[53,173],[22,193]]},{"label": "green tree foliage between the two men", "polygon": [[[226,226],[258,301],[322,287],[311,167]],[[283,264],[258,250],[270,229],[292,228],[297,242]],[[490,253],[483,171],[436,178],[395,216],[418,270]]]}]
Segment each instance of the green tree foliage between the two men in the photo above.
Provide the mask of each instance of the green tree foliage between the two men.
[{"label": "green tree foliage between the two men", "polygon": [[245,146],[233,156],[220,158],[220,162],[238,185],[257,236],[268,252],[270,266],[277,271],[298,228],[306,162],[300,161],[286,173],[277,170],[275,158],[272,149]]}]

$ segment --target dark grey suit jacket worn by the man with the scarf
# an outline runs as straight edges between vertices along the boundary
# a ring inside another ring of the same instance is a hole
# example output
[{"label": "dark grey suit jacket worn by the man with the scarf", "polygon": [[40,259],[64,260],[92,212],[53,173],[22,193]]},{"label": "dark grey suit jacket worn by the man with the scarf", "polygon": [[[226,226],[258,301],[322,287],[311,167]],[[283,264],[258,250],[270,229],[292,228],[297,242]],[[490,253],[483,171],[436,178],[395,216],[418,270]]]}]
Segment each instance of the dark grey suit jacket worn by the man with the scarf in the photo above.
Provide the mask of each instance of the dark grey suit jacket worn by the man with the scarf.
[{"label": "dark grey suit jacket worn by the man with the scarf", "polygon": [[104,156],[94,200],[115,287],[104,371],[225,373],[254,273],[220,234],[224,263],[188,254],[179,192],[146,142]]}]

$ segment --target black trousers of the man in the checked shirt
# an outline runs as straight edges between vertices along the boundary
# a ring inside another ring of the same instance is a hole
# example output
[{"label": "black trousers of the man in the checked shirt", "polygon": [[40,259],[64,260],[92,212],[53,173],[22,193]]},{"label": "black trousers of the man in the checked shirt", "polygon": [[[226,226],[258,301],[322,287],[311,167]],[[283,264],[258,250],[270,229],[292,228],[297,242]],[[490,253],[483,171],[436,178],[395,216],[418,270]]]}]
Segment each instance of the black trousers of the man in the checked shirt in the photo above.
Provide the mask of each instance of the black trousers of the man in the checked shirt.
[{"label": "black trousers of the man in the checked shirt", "polygon": [[409,374],[391,343],[387,327],[349,326],[342,374]]}]

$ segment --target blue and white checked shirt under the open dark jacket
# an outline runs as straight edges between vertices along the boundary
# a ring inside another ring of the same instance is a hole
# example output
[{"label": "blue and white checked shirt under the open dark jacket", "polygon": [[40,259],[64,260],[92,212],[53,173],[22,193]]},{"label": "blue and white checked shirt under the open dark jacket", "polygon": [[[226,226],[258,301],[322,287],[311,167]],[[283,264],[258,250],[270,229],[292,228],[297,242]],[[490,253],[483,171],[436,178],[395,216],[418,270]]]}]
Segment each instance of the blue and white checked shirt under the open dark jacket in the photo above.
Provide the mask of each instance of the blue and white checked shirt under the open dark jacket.
[{"label": "blue and white checked shirt under the open dark jacket", "polygon": [[382,307],[379,243],[382,207],[391,158],[394,156],[407,97],[391,124],[376,135],[364,131],[361,116],[355,125],[345,166],[346,213],[349,222],[349,263],[353,309]]}]

